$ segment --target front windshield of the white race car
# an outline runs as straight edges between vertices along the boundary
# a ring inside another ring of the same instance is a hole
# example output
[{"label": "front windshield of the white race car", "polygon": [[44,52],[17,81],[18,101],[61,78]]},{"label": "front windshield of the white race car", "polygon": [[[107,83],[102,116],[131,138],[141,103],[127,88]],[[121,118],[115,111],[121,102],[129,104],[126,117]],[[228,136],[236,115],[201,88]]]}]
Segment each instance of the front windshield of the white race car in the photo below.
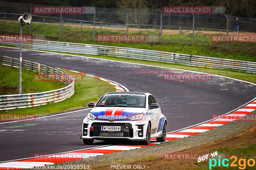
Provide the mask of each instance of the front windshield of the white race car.
[{"label": "front windshield of the white race car", "polygon": [[145,108],[146,95],[139,94],[107,94],[96,107],[138,107]]}]

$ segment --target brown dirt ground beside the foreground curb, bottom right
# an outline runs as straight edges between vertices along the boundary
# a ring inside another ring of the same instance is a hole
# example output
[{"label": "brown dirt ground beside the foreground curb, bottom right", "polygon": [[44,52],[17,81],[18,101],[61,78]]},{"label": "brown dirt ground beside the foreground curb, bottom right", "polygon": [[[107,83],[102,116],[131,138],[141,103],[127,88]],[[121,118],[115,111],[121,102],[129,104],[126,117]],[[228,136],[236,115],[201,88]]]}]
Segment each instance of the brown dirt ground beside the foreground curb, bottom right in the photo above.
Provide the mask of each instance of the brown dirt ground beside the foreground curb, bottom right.
[{"label": "brown dirt ground beside the foreground curb, bottom right", "polygon": [[[184,153],[211,153],[220,148],[245,148],[244,144],[255,144],[256,143],[256,126],[247,129],[246,131],[235,135],[233,137],[221,139],[209,144],[192,147],[180,152],[176,152],[177,154]],[[174,153],[173,153],[174,154]],[[226,158],[230,158],[232,155],[225,155]],[[209,162],[209,159],[208,159]],[[145,169],[153,170],[153,169],[172,169],[172,170],[184,170],[184,169],[198,169],[200,167],[208,166],[207,164],[195,164],[196,160],[164,160],[163,156],[154,157],[148,160],[138,160],[134,162],[125,163],[123,165],[145,165]],[[113,166],[113,165],[112,165]],[[143,166],[142,166],[143,167]],[[209,166],[208,166],[209,168]],[[111,168],[110,165],[97,167],[100,170],[109,170],[114,169]],[[117,168],[116,168],[117,169]],[[121,168],[118,168],[121,169]],[[133,169],[133,168],[132,168]],[[137,168],[139,169],[139,168]]]}]

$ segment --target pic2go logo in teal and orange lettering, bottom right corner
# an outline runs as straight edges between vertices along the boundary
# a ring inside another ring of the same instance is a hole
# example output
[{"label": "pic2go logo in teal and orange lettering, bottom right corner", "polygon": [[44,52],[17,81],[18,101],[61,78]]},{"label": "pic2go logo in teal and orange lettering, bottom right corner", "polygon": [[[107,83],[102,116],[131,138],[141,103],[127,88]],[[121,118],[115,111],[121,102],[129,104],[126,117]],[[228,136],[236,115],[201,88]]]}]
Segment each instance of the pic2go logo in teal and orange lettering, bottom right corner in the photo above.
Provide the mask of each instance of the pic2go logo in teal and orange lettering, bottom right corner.
[{"label": "pic2go logo in teal and orange lettering, bottom right corner", "polygon": [[[228,163],[228,159],[223,159],[222,161],[220,160],[220,156],[218,156],[219,159],[218,159],[218,166],[220,166],[220,163],[222,164],[222,166],[229,166],[229,163]],[[237,167],[237,164],[236,164],[236,161],[237,161],[237,157],[236,156],[231,156],[230,159],[235,159],[231,164],[230,166],[235,166]],[[213,163],[214,162],[214,163]],[[213,163],[213,164],[212,164]],[[254,166],[255,165],[255,160],[254,159],[248,159],[247,162],[246,162],[246,159],[239,159],[238,160],[238,168],[239,169],[245,169],[246,168],[246,163],[248,166]],[[216,166],[217,165],[217,160],[216,159],[209,159],[209,169],[212,169],[212,167]]]}]

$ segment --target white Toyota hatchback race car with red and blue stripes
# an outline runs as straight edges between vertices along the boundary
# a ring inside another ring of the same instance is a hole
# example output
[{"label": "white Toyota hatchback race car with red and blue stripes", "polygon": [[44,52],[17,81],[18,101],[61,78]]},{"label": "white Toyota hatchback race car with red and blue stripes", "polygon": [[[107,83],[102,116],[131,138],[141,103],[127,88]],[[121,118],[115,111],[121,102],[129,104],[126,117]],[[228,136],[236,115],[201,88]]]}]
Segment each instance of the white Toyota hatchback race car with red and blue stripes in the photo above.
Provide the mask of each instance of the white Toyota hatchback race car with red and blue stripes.
[{"label": "white Toyota hatchback race car with red and blue stripes", "polygon": [[148,145],[150,138],[166,139],[166,117],[150,93],[108,92],[95,104],[83,121],[80,139],[84,144],[97,140],[132,140]]}]

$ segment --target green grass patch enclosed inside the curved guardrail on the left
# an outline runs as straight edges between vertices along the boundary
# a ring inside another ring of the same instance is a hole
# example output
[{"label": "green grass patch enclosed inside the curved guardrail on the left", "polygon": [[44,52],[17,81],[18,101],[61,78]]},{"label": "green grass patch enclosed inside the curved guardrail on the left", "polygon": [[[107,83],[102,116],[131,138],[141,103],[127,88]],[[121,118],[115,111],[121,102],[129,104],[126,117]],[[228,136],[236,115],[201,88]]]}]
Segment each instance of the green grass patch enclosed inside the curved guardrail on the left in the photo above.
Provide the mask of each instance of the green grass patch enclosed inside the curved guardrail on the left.
[{"label": "green grass patch enclosed inside the curved guardrail on the left", "polygon": [[[0,66],[0,95],[12,95],[19,93],[19,68]],[[65,87],[63,82],[34,81],[33,75],[38,72],[30,72],[22,68],[22,93],[36,93],[60,89]]]}]

